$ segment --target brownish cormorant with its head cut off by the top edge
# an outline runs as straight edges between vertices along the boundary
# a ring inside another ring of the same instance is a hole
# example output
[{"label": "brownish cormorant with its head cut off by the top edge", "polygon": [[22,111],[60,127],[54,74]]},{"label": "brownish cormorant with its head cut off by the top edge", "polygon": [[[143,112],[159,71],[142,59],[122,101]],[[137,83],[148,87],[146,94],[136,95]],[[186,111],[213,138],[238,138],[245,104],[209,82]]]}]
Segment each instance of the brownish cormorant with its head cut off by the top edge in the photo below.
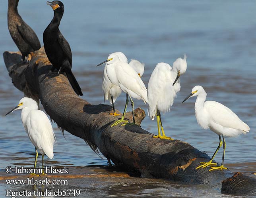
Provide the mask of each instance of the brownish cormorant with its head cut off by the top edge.
[{"label": "brownish cormorant with its head cut off by the top edge", "polygon": [[8,29],[24,60],[30,52],[41,48],[37,34],[18,13],[19,0],[8,0]]}]

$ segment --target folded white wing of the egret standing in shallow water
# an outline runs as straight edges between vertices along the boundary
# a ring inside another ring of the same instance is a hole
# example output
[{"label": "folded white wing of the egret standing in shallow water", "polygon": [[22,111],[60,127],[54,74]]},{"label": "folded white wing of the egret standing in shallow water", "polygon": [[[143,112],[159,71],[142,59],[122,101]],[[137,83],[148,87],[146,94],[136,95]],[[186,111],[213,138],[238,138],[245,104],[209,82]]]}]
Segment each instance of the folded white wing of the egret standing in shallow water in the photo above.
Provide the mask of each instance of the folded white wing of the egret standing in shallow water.
[{"label": "folded white wing of the egret standing in shallow water", "polygon": [[55,135],[47,115],[41,110],[32,110],[27,119],[27,133],[32,143],[52,159]]}]

